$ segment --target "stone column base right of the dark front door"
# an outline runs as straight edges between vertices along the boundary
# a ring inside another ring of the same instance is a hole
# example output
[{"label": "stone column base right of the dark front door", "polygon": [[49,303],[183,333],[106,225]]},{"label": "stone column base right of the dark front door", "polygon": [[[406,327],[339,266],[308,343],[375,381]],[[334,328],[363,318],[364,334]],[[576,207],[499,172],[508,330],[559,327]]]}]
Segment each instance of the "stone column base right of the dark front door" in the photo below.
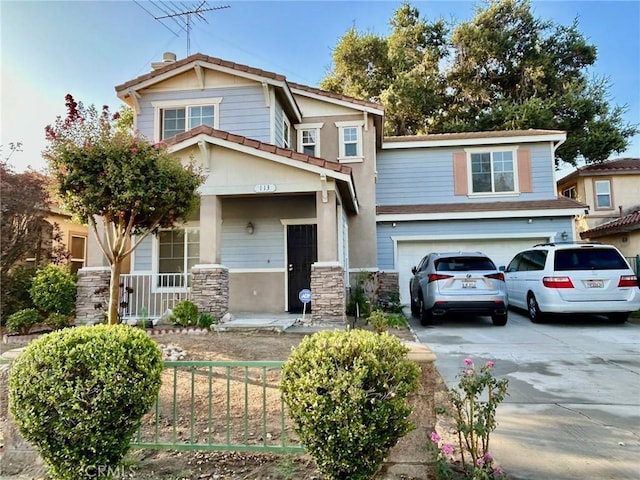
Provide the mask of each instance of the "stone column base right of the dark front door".
[{"label": "stone column base right of the dark front door", "polygon": [[344,270],[338,262],[311,265],[311,320],[314,323],[346,320]]}]

